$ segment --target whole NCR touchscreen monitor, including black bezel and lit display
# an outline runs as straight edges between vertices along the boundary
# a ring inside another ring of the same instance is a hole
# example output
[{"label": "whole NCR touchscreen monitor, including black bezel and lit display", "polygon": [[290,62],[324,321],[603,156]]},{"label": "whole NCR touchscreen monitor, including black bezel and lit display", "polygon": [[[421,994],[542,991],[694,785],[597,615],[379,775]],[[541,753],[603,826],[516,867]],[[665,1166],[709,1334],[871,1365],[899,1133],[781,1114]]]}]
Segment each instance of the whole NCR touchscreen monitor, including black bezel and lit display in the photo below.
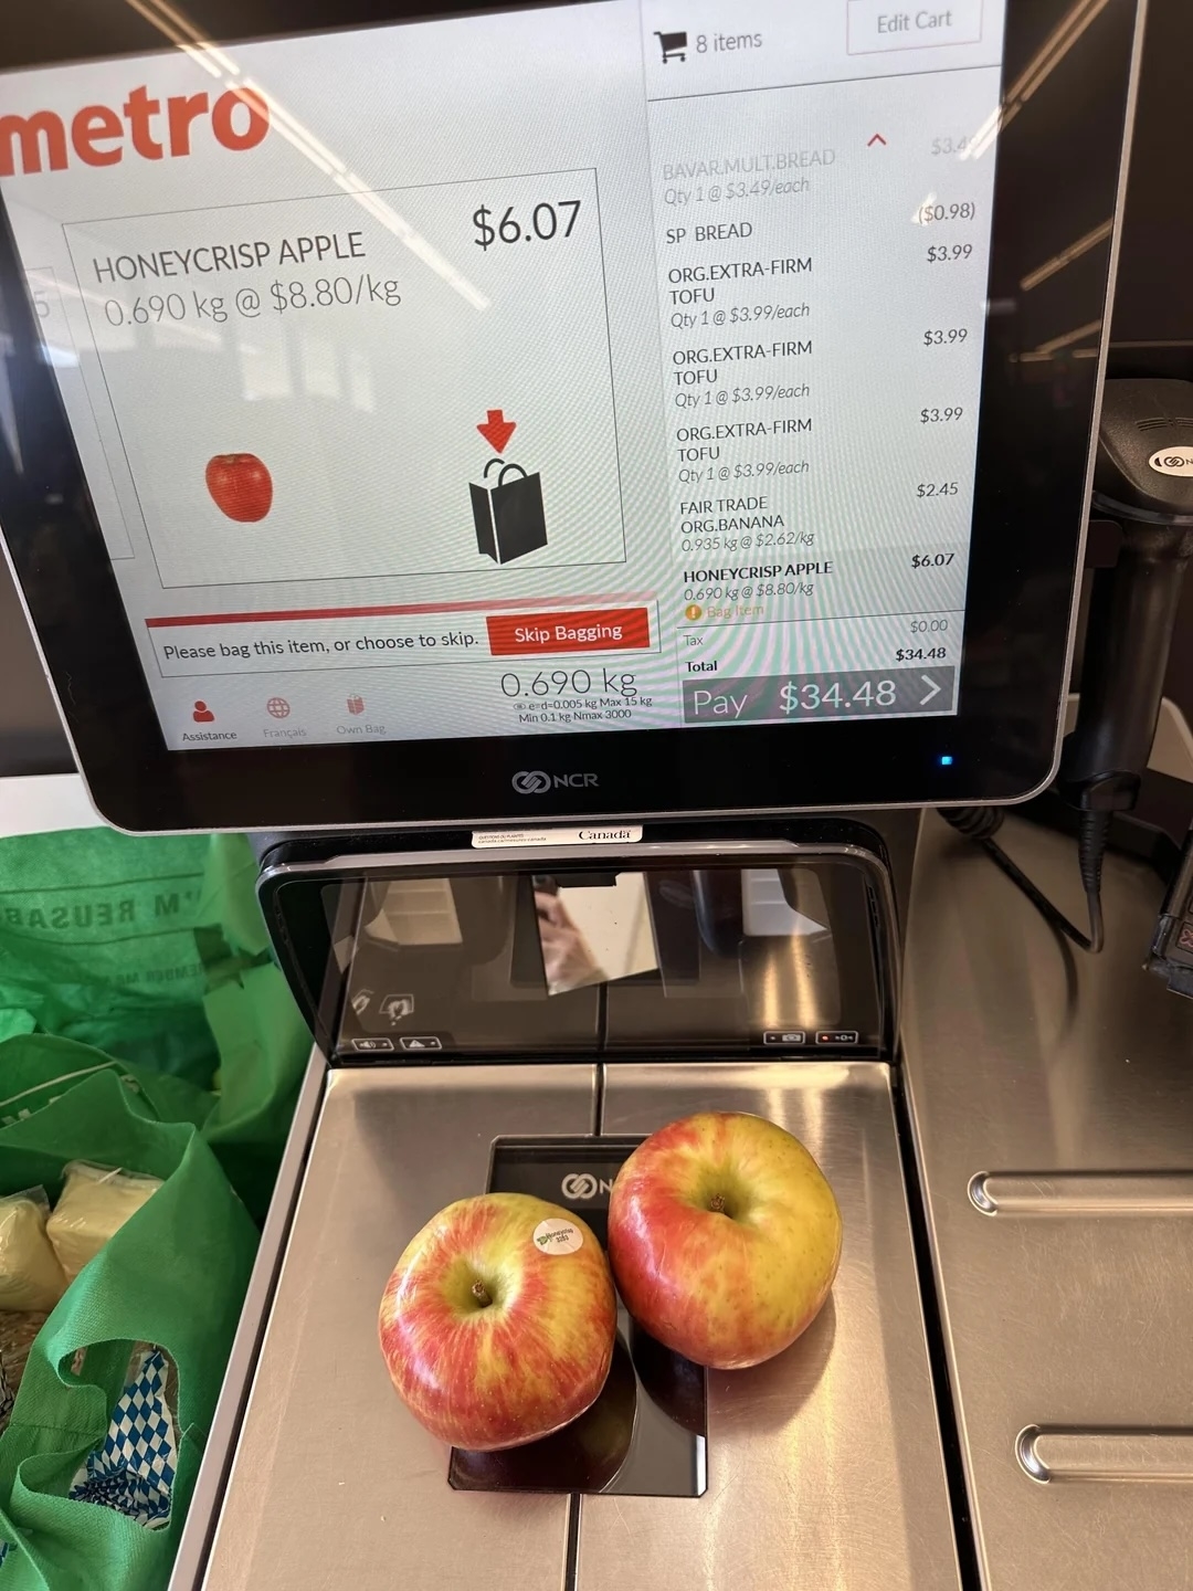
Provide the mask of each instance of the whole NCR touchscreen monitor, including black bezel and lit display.
[{"label": "whole NCR touchscreen monitor, including black bezel and lit display", "polygon": [[6,8],[0,523],[100,810],[1045,781],[1131,0],[286,10]]}]

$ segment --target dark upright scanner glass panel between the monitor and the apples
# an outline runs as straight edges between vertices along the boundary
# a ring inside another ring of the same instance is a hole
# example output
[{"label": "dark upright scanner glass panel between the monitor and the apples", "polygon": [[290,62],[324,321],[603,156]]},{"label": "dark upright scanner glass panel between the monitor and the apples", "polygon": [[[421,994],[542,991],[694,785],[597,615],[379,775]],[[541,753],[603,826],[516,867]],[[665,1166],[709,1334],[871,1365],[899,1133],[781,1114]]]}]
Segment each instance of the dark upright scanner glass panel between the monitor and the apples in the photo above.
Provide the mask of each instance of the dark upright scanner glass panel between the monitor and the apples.
[{"label": "dark upright scanner glass panel between the monitor and the apples", "polygon": [[884,1042],[872,870],[799,866],[385,873],[321,889],[321,1023],[342,1060]]}]

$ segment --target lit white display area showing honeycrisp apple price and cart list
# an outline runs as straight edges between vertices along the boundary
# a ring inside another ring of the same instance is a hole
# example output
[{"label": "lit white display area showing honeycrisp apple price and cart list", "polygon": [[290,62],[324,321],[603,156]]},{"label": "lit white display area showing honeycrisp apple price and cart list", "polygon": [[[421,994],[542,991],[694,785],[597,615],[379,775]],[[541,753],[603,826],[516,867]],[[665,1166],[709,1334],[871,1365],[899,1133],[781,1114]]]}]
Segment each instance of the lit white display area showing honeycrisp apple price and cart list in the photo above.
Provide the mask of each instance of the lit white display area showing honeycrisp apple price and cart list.
[{"label": "lit white display area showing honeycrisp apple price and cart list", "polygon": [[167,745],[956,711],[999,0],[0,78]]}]

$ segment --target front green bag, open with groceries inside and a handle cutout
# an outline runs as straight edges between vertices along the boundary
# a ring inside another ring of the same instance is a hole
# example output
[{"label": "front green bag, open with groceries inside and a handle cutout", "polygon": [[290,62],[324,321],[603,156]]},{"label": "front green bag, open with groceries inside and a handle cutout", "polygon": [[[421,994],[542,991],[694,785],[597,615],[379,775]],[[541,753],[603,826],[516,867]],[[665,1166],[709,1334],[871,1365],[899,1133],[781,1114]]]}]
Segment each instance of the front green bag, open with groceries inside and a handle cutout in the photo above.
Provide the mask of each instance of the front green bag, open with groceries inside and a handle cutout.
[{"label": "front green bag, open with groceries inside and a handle cutout", "polygon": [[[70,1160],[164,1185],[80,1271],[30,1349],[0,1437],[0,1591],[164,1591],[256,1228],[200,1134],[197,1120],[210,1114],[200,1090],[48,1037],[0,1044],[0,1076],[17,1074],[24,1103],[16,1117],[13,1101],[0,1112],[0,1193],[41,1184],[54,1200]],[[103,1449],[142,1343],[164,1349],[177,1370],[177,1467],[157,1529],[67,1496]]]}]

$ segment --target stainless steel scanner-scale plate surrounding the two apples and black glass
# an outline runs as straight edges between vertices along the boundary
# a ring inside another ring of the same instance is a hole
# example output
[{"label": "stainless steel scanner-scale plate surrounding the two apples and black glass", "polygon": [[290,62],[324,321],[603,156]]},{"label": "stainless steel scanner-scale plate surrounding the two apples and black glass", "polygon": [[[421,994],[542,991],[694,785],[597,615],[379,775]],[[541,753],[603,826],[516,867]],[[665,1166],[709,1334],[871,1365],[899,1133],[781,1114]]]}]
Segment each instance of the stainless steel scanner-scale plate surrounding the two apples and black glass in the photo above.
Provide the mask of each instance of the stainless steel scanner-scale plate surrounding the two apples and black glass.
[{"label": "stainless steel scanner-scale plate surrounding the two apples and black glass", "polygon": [[[786,1354],[709,1376],[703,1497],[496,1496],[393,1394],[388,1271],[485,1185],[501,1134],[592,1133],[592,1066],[344,1069],[315,1131],[202,1585],[208,1591],[956,1591],[886,1066],[608,1066],[601,1128],[765,1112],[837,1190],[834,1298]],[[571,1526],[571,1553],[569,1553]]]}]

